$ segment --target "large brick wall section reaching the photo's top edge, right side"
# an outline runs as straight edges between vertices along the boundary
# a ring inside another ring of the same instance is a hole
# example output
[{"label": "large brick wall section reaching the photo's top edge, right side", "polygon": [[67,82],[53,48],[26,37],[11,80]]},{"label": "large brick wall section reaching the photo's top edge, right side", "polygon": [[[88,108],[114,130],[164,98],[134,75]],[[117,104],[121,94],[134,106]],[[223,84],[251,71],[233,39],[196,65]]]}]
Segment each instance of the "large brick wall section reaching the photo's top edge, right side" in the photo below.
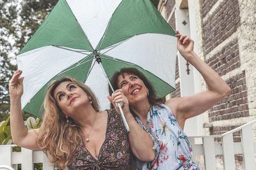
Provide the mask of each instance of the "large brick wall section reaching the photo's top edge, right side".
[{"label": "large brick wall section reaching the photo's top edge, right side", "polygon": [[227,0],[220,3],[218,8],[202,23],[205,54],[211,52],[211,50],[236,32],[239,25],[238,1]]}]

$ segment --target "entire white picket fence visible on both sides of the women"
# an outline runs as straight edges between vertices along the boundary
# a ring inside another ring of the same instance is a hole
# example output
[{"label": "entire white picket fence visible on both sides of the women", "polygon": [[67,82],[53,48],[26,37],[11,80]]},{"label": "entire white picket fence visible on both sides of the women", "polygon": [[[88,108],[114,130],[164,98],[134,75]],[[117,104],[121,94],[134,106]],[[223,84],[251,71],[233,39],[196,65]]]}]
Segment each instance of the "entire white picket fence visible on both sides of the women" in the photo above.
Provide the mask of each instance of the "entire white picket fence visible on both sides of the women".
[{"label": "entire white picket fence visible on both sides of the women", "polygon": [[[256,169],[255,153],[256,143],[253,141],[253,124],[256,120],[244,124],[232,131],[221,135],[211,136],[189,136],[189,141],[193,146],[193,159],[198,155],[204,155],[206,170],[216,170],[216,155],[223,155],[225,170],[236,169],[235,154],[243,154],[243,165],[246,170]],[[233,133],[241,132],[241,142],[233,142]],[[220,143],[215,143],[214,138],[221,138]],[[195,143],[202,141],[201,144]],[[12,166],[21,164],[22,169],[32,170],[33,163],[43,163],[44,170],[54,169],[48,162],[47,157],[41,151],[21,149],[21,152],[12,152],[12,147],[16,145],[0,145],[0,165]]]}]

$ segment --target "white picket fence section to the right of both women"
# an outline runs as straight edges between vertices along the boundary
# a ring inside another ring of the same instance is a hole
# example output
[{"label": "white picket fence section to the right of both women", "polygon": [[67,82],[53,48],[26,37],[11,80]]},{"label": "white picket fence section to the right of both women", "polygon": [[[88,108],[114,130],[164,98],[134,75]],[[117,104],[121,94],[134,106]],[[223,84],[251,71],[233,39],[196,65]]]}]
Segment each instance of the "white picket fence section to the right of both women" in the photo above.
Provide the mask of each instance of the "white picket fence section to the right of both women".
[{"label": "white picket fence section to the right of both women", "polygon": [[[243,169],[255,170],[256,142],[253,139],[253,124],[255,123],[256,120],[253,120],[221,135],[189,136],[193,148],[193,160],[196,156],[204,155],[205,169],[216,170],[216,155],[223,155],[223,169],[233,170],[236,169],[234,155],[242,154]],[[241,142],[233,141],[234,132],[240,132]],[[221,138],[221,142],[215,143],[215,138]],[[200,140],[202,144],[195,144],[195,141]]]}]

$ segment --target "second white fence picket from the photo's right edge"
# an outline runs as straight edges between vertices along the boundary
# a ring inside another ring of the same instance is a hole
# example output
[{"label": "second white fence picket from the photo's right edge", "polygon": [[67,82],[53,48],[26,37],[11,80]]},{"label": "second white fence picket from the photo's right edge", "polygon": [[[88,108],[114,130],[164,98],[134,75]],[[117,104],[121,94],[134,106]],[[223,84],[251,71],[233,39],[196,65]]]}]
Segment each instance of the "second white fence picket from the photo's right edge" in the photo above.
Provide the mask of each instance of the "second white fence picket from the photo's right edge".
[{"label": "second white fence picket from the photo's right edge", "polygon": [[224,158],[224,169],[236,169],[233,133],[225,134],[224,136],[221,137],[221,141]]}]

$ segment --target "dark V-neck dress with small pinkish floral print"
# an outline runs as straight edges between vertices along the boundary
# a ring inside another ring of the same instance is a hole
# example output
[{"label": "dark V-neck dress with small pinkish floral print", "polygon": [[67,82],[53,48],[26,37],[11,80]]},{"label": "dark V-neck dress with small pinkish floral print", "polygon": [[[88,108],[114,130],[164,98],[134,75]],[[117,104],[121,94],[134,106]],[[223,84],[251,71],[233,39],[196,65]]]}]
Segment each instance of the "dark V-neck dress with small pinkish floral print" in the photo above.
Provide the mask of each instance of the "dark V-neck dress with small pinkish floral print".
[{"label": "dark V-neck dress with small pinkish floral print", "polygon": [[99,156],[93,157],[84,145],[77,147],[68,169],[131,169],[128,133],[122,118],[114,110],[108,111],[106,139]]}]

